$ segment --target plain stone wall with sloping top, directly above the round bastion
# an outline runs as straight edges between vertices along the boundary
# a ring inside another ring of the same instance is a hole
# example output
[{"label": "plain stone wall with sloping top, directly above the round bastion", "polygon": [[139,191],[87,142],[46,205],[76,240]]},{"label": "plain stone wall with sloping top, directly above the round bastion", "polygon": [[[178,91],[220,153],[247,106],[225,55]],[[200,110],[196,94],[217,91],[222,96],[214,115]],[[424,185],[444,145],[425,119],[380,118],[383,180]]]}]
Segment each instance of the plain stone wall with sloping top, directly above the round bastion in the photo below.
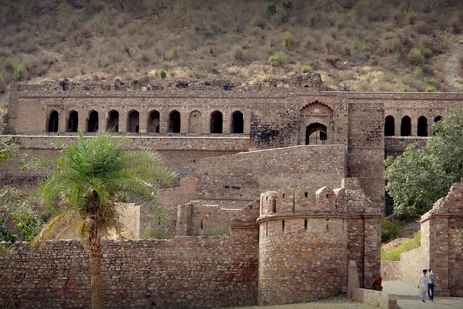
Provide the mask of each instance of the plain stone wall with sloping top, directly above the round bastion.
[{"label": "plain stone wall with sloping top, directly above the round bastion", "polygon": [[[257,164],[258,162],[258,164]],[[192,175],[206,204],[238,208],[267,190],[307,184],[314,198],[321,186],[336,188],[345,177],[343,145],[300,145],[201,159]]]}]

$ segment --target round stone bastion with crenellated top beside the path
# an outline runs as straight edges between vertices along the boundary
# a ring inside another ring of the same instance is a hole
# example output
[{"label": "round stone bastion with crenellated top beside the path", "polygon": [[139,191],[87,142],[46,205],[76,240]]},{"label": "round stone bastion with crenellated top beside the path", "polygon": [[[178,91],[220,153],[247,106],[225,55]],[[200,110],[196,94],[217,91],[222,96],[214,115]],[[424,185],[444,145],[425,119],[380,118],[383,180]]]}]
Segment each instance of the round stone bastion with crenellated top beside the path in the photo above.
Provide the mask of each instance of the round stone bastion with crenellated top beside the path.
[{"label": "round stone bastion with crenellated top beside the path", "polygon": [[[374,246],[379,243],[379,214],[365,212],[371,201],[358,179],[343,179],[341,188],[323,186],[315,194],[309,192],[314,190],[298,186],[260,195],[261,305],[341,293],[350,260],[361,267],[362,286],[379,272],[379,251]],[[365,236],[369,229],[372,235]]]}]

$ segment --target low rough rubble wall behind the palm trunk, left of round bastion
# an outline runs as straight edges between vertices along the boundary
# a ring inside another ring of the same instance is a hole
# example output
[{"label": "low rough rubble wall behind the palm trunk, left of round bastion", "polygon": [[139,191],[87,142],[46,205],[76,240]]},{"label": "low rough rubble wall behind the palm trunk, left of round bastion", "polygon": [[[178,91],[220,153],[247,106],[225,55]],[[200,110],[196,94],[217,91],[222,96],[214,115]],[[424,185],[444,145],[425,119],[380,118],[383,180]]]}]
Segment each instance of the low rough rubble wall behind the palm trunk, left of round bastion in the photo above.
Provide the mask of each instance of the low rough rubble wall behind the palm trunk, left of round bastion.
[{"label": "low rough rubble wall behind the palm trunk, left of round bastion", "polygon": [[[231,237],[107,241],[106,308],[212,308],[257,299],[257,227]],[[78,242],[8,245],[0,255],[4,308],[90,308],[88,255]]]}]

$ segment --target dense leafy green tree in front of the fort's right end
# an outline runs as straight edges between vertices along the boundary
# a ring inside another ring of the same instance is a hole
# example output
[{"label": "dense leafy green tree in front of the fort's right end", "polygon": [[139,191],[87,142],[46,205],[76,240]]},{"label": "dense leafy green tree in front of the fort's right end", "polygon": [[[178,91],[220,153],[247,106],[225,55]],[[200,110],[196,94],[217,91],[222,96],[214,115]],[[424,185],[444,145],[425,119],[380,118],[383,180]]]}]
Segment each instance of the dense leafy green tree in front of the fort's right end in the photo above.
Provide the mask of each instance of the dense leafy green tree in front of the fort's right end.
[{"label": "dense leafy green tree in front of the fort's right end", "polygon": [[433,124],[435,136],[424,148],[408,145],[396,159],[385,160],[385,190],[394,200],[394,212],[425,213],[463,179],[463,109],[453,109]]}]

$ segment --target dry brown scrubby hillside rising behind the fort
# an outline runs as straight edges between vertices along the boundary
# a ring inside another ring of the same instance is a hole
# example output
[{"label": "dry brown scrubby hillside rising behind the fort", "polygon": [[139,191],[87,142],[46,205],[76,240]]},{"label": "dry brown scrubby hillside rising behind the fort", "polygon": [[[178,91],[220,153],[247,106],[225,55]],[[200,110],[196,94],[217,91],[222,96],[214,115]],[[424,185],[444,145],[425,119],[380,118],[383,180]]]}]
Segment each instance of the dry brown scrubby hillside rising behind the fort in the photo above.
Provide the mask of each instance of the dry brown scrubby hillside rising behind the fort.
[{"label": "dry brown scrubby hillside rising behind the fort", "polygon": [[[460,0],[0,0],[14,81],[229,79],[302,71],[352,91],[462,91]],[[5,103],[5,96],[1,98]]]}]

